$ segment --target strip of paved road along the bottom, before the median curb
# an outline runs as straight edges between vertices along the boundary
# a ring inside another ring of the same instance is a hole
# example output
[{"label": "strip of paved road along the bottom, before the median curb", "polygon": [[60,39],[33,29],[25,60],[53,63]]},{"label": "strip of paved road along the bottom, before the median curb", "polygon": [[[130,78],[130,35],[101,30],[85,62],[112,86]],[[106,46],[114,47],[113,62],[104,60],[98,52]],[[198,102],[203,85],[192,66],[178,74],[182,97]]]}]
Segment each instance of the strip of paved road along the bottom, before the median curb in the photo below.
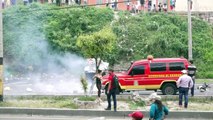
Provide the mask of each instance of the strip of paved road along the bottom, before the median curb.
[{"label": "strip of paved road along the bottom, before the median curb", "polygon": [[[91,116],[27,116],[27,115],[0,115],[0,120],[131,120],[128,117],[116,118],[116,117],[91,117]],[[144,118],[148,120],[148,118]],[[166,120],[196,120],[196,119],[166,119]],[[197,119],[200,120],[200,119]],[[207,119],[202,119],[207,120]]]}]

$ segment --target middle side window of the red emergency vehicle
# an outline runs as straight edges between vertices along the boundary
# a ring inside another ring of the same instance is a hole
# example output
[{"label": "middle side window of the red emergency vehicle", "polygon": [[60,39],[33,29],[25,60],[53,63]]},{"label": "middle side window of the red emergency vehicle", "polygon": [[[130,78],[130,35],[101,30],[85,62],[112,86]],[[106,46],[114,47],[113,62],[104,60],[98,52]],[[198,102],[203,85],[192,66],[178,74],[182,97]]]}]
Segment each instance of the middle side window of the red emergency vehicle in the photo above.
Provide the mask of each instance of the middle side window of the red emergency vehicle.
[{"label": "middle side window of the red emergency vehicle", "polygon": [[166,71],[166,63],[150,63],[150,71]]}]

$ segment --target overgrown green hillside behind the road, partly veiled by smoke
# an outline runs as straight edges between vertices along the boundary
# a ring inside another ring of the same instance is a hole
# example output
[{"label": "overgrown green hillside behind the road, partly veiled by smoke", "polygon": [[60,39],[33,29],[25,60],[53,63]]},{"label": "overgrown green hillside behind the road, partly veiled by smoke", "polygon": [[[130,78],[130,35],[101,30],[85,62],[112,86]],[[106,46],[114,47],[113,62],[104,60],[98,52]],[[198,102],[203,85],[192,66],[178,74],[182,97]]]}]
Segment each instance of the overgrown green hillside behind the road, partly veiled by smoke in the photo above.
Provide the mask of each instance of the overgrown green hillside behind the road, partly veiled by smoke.
[{"label": "overgrown green hillside behind the road, partly veiled by smoke", "polygon": [[[51,9],[51,10],[48,10]],[[113,53],[106,59],[113,64],[129,63],[152,54],[157,57],[185,57],[188,51],[187,18],[175,13],[141,13],[132,16],[103,8],[58,9],[32,4],[4,10],[5,74],[46,72],[46,64],[62,64],[63,54],[83,56],[76,46],[80,35],[92,34],[111,26],[117,35]],[[113,21],[113,22],[112,22]],[[192,19],[193,59],[199,78],[213,78],[213,26]],[[53,55],[53,56],[50,56]],[[55,59],[55,56],[61,58]],[[54,58],[54,59],[53,59]]]}]

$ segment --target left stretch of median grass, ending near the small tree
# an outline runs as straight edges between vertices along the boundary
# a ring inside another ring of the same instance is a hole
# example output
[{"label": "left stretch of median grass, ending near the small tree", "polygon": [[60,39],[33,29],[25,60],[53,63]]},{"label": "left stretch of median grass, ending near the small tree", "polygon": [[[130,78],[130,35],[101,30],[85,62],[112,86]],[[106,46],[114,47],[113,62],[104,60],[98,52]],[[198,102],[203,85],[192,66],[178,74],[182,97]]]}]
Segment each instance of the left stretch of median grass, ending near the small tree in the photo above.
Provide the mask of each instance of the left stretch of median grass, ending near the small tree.
[{"label": "left stretch of median grass, ending near the small tree", "polygon": [[[96,97],[81,96],[77,97],[80,101],[94,101]],[[27,107],[27,108],[68,108],[78,109],[78,105],[73,101],[74,97],[67,96],[31,96],[16,97],[0,102],[0,107]]]}]

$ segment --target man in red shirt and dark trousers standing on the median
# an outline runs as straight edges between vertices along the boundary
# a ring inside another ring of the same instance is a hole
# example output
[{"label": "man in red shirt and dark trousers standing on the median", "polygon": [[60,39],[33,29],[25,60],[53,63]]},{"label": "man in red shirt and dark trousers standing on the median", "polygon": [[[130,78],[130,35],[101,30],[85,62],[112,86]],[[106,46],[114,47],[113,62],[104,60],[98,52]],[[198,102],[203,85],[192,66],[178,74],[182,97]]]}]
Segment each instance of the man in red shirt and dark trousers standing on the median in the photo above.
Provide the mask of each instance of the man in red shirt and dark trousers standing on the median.
[{"label": "man in red shirt and dark trousers standing on the median", "polygon": [[107,90],[107,102],[108,102],[108,106],[107,108],[105,108],[105,110],[111,110],[111,96],[113,98],[113,103],[114,103],[114,111],[116,112],[116,108],[117,108],[117,100],[116,100],[116,86],[114,84],[114,70],[113,69],[109,69],[109,85],[108,85],[108,90]]}]

